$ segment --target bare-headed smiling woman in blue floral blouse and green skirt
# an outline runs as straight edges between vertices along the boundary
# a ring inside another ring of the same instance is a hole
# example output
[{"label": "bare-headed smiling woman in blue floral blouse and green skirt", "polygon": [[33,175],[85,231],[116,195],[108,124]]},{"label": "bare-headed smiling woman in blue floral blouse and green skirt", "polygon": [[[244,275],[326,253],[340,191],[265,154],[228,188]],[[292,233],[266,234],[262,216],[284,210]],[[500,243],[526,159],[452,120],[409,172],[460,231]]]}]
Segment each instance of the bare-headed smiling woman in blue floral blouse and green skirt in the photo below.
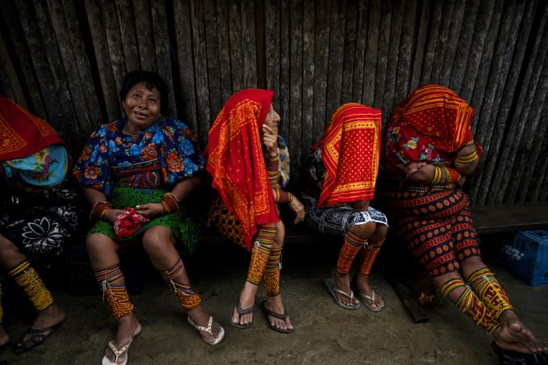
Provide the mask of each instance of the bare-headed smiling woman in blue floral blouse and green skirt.
[{"label": "bare-headed smiling woman in blue floral blouse and green skirt", "polygon": [[136,238],[203,339],[218,344],[224,335],[201,307],[178,253],[191,253],[196,238],[185,199],[198,185],[204,161],[193,133],[161,115],[168,88],[156,73],[128,73],[120,98],[126,118],[101,125],[74,170],[97,219],[86,240],[91,268],[118,321],[103,364],[126,364],[128,347],[141,331],[116,253]]}]

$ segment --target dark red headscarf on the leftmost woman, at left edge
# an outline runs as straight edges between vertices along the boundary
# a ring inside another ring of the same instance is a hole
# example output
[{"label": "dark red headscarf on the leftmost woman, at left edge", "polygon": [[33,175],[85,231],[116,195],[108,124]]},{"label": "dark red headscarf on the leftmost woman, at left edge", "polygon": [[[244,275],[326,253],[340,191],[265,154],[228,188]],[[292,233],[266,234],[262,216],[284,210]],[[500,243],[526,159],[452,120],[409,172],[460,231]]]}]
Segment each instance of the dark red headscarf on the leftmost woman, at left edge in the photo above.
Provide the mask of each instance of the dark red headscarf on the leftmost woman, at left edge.
[{"label": "dark red headscarf on the leftmost woman, at left edge", "polygon": [[0,95],[0,161],[24,158],[64,140],[46,120]]}]

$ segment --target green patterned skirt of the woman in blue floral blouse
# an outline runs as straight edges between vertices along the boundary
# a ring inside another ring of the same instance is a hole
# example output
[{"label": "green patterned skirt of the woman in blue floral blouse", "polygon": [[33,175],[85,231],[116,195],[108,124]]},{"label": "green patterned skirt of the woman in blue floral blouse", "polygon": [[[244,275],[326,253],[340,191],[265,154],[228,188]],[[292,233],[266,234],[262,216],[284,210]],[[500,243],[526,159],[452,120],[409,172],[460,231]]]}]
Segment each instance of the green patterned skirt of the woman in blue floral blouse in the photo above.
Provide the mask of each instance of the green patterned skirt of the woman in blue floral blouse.
[{"label": "green patterned skirt of the woman in blue floral blouse", "polygon": [[[138,187],[130,187],[127,185],[116,184],[108,201],[115,209],[123,209],[125,207],[135,207],[136,205],[148,204],[151,202],[161,202],[162,196],[168,190],[163,189],[142,189]],[[168,227],[173,236],[177,240],[177,250],[183,254],[192,255],[198,247],[198,240],[201,234],[201,225],[195,217],[188,214],[189,209],[186,205],[181,205],[178,211],[161,215],[147,222],[140,230],[133,233],[126,240],[131,240],[143,234],[148,228],[155,225]],[[114,227],[109,222],[98,220],[88,232],[103,233],[116,240]]]}]

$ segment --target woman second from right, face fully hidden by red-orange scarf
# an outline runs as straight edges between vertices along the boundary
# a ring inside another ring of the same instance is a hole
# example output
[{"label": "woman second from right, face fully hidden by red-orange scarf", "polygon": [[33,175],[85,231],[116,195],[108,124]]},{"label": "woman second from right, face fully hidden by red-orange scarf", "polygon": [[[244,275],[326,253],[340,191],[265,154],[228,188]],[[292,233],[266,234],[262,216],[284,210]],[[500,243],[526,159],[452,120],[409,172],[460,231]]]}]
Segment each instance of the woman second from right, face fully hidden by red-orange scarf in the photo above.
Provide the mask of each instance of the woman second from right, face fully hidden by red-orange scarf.
[{"label": "woman second from right, face fully hidden by red-orange scarf", "polygon": [[[387,232],[386,216],[369,205],[379,168],[380,128],[380,110],[344,104],[331,115],[308,158],[306,222],[326,235],[344,237],[332,277],[325,280],[335,303],[344,309],[360,307],[351,287],[373,312],[385,307],[368,280]],[[350,282],[358,255],[357,273]]]}]

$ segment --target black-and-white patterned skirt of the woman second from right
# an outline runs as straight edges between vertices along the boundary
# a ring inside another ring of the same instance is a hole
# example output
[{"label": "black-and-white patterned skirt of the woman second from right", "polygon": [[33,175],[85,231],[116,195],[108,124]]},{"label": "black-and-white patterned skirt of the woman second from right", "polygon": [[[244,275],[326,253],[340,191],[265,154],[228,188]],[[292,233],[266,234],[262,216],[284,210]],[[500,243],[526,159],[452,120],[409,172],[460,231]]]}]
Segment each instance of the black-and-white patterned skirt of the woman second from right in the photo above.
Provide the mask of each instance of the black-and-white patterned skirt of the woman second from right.
[{"label": "black-and-white patterned skirt of the woman second from right", "polygon": [[306,194],[303,194],[303,205],[306,210],[305,222],[326,235],[344,236],[350,227],[369,222],[388,226],[386,215],[373,207],[365,212],[356,212],[347,205],[319,208],[318,200]]}]

